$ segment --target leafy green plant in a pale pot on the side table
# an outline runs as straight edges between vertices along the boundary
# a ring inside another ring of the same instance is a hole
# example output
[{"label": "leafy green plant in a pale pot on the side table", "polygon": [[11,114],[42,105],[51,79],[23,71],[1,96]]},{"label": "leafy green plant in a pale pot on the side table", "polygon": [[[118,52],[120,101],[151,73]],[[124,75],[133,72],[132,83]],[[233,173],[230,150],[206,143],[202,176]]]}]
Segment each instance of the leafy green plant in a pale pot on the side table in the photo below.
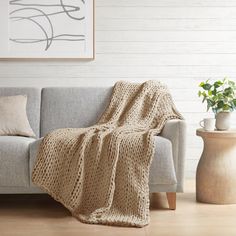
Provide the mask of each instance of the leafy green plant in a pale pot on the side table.
[{"label": "leafy green plant in a pale pot on the side table", "polygon": [[198,96],[203,97],[202,102],[207,103],[207,111],[211,108],[215,113],[216,128],[227,130],[230,128],[231,112],[236,110],[236,84],[224,78],[215,82],[201,82]]}]

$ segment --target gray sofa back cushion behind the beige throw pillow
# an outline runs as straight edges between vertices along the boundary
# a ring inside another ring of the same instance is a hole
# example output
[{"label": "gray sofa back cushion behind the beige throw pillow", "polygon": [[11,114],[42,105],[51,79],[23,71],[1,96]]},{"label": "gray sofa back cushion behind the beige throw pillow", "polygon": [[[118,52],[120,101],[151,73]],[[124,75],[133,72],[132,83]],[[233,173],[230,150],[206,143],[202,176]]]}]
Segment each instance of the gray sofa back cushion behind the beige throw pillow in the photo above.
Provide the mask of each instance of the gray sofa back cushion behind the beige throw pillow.
[{"label": "gray sofa back cushion behind the beige throw pillow", "polygon": [[31,128],[33,129],[36,137],[39,137],[40,127],[40,103],[41,103],[41,89],[39,88],[13,88],[13,87],[1,87],[0,96],[15,96],[26,95],[27,96],[27,117]]}]

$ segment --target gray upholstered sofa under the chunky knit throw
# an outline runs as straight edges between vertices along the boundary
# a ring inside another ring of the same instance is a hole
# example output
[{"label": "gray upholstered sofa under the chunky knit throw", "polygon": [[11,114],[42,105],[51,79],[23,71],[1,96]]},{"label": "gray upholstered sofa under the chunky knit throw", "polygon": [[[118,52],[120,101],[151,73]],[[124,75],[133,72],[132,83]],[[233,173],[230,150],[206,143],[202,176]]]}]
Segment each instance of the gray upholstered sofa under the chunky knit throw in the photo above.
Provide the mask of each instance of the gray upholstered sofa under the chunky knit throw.
[{"label": "gray upholstered sofa under the chunky knit throw", "polygon": [[[41,138],[65,127],[87,127],[98,120],[112,92],[109,88],[0,88],[0,96],[26,94],[27,114],[36,139],[0,136],[0,193],[42,193],[31,182]],[[184,121],[168,121],[156,136],[150,168],[150,192],[182,192],[185,156]]]}]

